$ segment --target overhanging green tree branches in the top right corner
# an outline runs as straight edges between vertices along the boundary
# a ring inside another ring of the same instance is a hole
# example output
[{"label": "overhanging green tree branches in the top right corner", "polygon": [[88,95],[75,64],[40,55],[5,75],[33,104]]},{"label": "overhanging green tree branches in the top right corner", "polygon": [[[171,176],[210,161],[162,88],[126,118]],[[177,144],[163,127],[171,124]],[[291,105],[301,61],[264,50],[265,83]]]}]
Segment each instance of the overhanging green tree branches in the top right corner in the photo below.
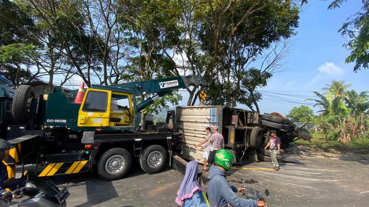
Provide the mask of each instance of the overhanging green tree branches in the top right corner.
[{"label": "overhanging green tree branches in the top right corner", "polygon": [[[346,0],[334,0],[328,9],[339,8]],[[369,68],[369,0],[362,0],[363,6],[354,15],[348,17],[338,30],[341,36],[348,38],[343,46],[350,51],[345,63],[355,62],[354,72]]]}]

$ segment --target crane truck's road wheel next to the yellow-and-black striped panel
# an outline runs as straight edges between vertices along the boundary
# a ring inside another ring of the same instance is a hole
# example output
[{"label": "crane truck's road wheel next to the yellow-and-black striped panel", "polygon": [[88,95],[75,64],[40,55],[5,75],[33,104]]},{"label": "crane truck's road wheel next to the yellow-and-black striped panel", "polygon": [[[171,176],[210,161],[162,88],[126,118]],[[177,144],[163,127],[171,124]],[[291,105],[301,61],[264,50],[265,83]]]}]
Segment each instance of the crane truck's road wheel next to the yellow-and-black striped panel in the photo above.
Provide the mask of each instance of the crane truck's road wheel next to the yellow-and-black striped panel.
[{"label": "crane truck's road wheel next to the yellow-and-black striped panel", "polygon": [[97,172],[104,180],[123,178],[131,168],[130,153],[123,148],[112,148],[104,152],[97,162]]}]

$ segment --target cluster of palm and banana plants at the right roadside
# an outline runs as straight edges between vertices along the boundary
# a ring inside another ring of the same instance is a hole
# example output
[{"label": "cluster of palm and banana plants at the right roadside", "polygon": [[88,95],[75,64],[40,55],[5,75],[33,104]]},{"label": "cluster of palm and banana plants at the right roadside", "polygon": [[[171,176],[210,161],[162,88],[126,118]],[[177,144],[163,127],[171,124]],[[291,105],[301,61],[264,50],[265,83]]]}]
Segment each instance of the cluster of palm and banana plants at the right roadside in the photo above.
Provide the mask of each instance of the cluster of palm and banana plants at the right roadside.
[{"label": "cluster of palm and banana plants at the right roadside", "polygon": [[368,128],[366,111],[369,109],[369,95],[368,91],[360,94],[354,90],[344,91],[351,86],[351,84],[345,85],[344,81],[332,83],[334,84],[328,85],[330,88],[327,88],[325,96],[314,92],[320,99],[313,100],[316,102],[315,105],[322,107],[322,114],[319,119],[312,118],[312,121],[317,124],[317,128],[320,127],[325,131],[326,135],[330,131],[339,142],[346,143],[362,136]]}]

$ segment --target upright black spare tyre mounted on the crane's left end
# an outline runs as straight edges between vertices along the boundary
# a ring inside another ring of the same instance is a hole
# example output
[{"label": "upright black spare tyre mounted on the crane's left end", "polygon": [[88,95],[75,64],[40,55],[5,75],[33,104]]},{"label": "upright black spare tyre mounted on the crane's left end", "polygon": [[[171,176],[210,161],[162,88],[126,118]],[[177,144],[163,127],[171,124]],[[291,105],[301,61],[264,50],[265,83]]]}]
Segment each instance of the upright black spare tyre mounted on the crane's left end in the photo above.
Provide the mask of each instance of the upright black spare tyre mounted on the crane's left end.
[{"label": "upright black spare tyre mounted on the crane's left end", "polygon": [[16,122],[29,122],[31,119],[31,101],[35,91],[30,85],[20,85],[13,98],[13,117]]}]

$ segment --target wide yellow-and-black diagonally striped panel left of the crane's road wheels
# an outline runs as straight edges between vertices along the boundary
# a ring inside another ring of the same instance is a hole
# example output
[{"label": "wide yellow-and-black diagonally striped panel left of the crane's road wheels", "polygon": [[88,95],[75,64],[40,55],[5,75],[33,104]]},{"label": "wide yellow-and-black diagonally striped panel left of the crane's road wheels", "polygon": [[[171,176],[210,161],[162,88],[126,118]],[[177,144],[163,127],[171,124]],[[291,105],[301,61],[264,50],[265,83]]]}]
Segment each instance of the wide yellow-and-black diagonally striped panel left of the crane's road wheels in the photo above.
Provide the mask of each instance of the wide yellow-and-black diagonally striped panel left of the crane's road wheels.
[{"label": "wide yellow-and-black diagonally striped panel left of the crane's road wheels", "polygon": [[36,176],[53,176],[66,175],[80,172],[87,172],[90,170],[90,161],[72,161],[72,162],[57,162],[36,165]]}]

